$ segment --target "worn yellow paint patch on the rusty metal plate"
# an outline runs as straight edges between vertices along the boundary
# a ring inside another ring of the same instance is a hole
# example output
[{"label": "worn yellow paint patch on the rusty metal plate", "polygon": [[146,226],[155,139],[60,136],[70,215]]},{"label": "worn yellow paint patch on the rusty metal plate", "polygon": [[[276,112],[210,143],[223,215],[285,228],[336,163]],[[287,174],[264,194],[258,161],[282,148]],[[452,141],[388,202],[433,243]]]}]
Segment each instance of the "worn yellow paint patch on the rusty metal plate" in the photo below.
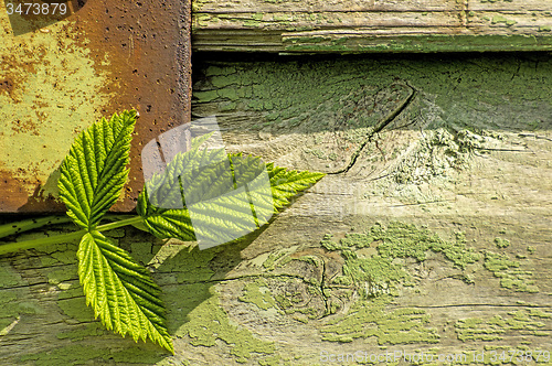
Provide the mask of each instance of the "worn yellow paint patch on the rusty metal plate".
[{"label": "worn yellow paint patch on the rusty metal plate", "polygon": [[[45,183],[109,97],[100,92],[106,76],[96,73],[75,32],[64,20],[47,32],[13,36],[8,15],[0,13],[0,80],[10,85],[0,88],[0,166],[14,177]],[[55,193],[55,184],[50,189],[44,196]]]}]

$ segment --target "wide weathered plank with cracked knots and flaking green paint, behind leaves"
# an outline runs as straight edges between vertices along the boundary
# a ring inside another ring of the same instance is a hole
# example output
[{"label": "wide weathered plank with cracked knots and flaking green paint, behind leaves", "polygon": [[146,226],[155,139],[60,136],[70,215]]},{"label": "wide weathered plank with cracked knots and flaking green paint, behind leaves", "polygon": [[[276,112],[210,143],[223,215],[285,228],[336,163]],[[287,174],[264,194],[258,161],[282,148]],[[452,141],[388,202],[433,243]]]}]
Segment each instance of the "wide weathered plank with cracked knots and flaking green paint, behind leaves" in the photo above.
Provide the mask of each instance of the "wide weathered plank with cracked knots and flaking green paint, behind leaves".
[{"label": "wide weathered plank with cracked knots and flaking green paint, behind leaves", "polygon": [[174,356],[92,319],[75,244],[0,258],[0,364],[424,352],[482,365],[507,364],[492,351],[552,349],[550,56],[197,65],[193,112],[217,116],[229,150],[328,175],[238,244],[199,251],[112,232],[162,287]]}]

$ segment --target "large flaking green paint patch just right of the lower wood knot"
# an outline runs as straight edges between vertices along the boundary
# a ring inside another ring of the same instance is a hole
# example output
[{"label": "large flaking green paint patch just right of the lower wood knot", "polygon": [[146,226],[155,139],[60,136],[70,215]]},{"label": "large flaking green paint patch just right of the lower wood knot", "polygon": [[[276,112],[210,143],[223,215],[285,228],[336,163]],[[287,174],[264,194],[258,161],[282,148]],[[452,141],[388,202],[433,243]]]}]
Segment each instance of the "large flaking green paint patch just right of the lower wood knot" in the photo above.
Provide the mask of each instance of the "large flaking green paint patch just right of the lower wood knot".
[{"label": "large flaking green paint patch just right of the lower wood knot", "polygon": [[[447,243],[428,229],[393,222],[388,227],[372,226],[365,234],[348,234],[339,241],[326,236],[321,241],[328,250],[338,250],[344,258],[343,274],[357,284],[362,294],[353,308],[321,330],[325,341],[352,342],[354,338],[376,337],[379,344],[438,343],[438,332],[428,325],[425,310],[405,308],[388,311],[386,305],[400,295],[399,286],[410,286],[410,274],[399,258],[423,261],[428,251],[442,252],[458,268],[479,259],[466,247],[464,234]],[[360,255],[375,248],[370,257]],[[343,282],[342,278],[337,279]]]}]

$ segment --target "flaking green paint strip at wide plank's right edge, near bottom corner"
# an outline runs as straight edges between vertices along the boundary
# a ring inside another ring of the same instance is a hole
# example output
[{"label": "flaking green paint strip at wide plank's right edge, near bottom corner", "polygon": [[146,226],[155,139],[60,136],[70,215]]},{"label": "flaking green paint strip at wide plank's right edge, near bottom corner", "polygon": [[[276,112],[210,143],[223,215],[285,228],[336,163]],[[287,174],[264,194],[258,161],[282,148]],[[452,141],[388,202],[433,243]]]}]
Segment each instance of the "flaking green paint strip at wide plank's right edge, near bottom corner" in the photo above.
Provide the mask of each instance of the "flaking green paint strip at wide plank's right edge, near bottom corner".
[{"label": "flaking green paint strip at wide plank's right edge, near bottom corner", "polygon": [[455,323],[458,340],[499,341],[508,333],[522,335],[550,336],[541,319],[550,319],[552,314],[535,309],[523,309],[497,314],[490,319],[468,317]]}]

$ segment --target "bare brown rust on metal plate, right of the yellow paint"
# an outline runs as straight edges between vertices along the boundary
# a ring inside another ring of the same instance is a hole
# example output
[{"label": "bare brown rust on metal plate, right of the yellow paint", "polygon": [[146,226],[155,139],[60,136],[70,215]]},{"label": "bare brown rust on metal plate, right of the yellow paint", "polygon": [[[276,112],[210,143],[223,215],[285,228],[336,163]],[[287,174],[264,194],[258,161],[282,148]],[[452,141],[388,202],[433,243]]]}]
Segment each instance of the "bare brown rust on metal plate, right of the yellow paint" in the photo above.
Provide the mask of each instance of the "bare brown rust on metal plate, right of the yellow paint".
[{"label": "bare brown rust on metal plate, right of the yellow paint", "polygon": [[[131,211],[144,187],[140,152],[158,134],[190,120],[191,60],[188,1],[87,2],[76,14],[78,42],[109,73],[105,92],[115,98],[105,116],[135,108],[130,182],[115,211]],[[105,65],[106,54],[110,64]],[[115,93],[114,93],[115,92]]]}]

